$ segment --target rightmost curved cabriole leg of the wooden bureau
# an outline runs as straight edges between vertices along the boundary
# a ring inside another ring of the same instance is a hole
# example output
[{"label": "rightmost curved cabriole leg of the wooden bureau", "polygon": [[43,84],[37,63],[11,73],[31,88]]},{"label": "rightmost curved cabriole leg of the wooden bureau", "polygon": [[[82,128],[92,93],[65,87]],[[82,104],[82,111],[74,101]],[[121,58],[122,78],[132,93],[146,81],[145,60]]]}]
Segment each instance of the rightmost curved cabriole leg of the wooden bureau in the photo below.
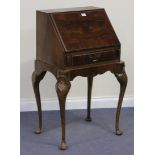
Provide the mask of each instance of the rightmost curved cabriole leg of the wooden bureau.
[{"label": "rightmost curved cabriole leg of the wooden bureau", "polygon": [[122,135],[123,132],[120,130],[120,127],[119,127],[119,119],[120,119],[120,112],[121,112],[123,97],[126,90],[128,79],[127,79],[125,70],[123,70],[121,74],[115,74],[115,76],[118,82],[120,83],[120,94],[119,94],[119,100],[118,100],[117,112],[116,112],[115,130],[116,130],[116,135]]}]

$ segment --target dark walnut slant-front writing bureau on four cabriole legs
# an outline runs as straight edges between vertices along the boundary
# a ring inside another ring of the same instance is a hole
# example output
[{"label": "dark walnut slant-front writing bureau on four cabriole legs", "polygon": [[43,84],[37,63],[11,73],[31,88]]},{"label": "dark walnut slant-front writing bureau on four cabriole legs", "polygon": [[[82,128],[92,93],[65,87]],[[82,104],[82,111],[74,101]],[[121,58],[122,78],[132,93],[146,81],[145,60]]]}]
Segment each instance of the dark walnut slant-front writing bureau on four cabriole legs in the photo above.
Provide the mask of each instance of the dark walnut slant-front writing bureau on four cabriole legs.
[{"label": "dark walnut slant-front writing bureau on four cabriole legs", "polygon": [[86,121],[91,121],[91,90],[93,77],[106,71],[120,83],[116,111],[116,135],[121,135],[119,117],[127,85],[124,62],[120,60],[121,45],[103,8],[85,7],[36,12],[36,60],[32,83],[36,97],[39,127],[42,130],[39,83],[47,71],[57,79],[56,92],[60,105],[62,139],[60,149],[67,149],[65,136],[65,102],[76,76],[87,77],[88,103]]}]

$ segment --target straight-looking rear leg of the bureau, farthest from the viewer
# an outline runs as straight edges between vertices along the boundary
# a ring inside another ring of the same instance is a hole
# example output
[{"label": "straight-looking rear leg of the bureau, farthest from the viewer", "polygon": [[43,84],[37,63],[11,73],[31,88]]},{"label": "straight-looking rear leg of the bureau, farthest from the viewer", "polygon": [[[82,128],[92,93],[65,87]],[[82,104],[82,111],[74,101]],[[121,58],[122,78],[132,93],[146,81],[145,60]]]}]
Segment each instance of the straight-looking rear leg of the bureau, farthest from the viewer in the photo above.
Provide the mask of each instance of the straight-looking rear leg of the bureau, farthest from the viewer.
[{"label": "straight-looking rear leg of the bureau, farthest from the viewer", "polygon": [[93,77],[87,77],[87,82],[88,82],[88,94],[87,94],[86,121],[92,121],[90,112],[91,112],[91,93],[92,93]]}]

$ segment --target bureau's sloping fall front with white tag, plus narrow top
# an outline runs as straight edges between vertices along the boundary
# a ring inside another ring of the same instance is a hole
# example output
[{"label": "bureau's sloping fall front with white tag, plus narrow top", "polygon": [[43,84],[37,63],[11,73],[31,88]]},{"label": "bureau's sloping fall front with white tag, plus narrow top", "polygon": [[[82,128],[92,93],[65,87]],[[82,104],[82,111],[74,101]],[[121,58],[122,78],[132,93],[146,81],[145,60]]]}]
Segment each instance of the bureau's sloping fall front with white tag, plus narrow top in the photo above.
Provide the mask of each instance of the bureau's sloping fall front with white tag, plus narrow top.
[{"label": "bureau's sloping fall front with white tag, plus narrow top", "polygon": [[66,52],[120,46],[103,8],[80,7],[43,12],[50,15]]}]

